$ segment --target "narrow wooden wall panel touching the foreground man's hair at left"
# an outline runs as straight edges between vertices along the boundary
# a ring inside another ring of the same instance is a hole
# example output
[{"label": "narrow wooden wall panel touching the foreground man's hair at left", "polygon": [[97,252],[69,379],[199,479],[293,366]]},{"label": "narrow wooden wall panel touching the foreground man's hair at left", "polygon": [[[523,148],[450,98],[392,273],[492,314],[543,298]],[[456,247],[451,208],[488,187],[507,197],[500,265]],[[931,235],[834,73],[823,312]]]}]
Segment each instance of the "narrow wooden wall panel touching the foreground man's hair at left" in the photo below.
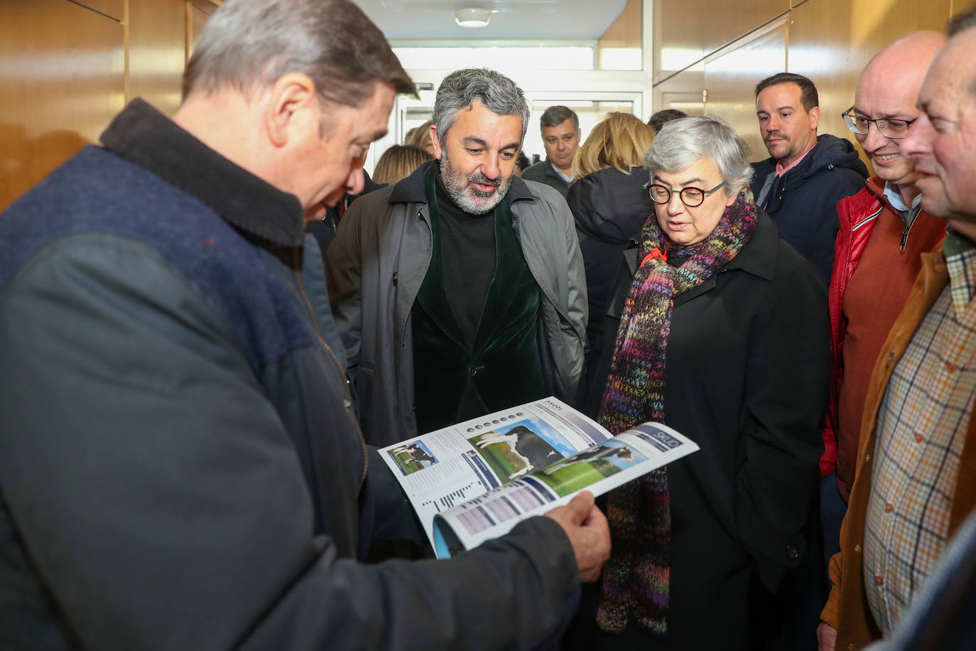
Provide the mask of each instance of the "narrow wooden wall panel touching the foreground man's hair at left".
[{"label": "narrow wooden wall panel touching the foreground man's hair at left", "polygon": [[129,96],[167,115],[180,105],[186,0],[129,1]]}]

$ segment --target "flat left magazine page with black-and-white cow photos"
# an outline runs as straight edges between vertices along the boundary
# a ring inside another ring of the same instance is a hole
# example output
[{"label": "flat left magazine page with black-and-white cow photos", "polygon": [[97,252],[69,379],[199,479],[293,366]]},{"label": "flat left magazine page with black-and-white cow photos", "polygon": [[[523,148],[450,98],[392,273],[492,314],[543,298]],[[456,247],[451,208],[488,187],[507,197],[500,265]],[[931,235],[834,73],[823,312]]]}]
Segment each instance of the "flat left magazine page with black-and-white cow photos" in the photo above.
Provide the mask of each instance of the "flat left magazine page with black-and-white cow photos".
[{"label": "flat left magazine page with black-and-white cow photos", "polygon": [[434,515],[608,438],[606,429],[549,397],[401,441],[380,455],[436,549]]}]

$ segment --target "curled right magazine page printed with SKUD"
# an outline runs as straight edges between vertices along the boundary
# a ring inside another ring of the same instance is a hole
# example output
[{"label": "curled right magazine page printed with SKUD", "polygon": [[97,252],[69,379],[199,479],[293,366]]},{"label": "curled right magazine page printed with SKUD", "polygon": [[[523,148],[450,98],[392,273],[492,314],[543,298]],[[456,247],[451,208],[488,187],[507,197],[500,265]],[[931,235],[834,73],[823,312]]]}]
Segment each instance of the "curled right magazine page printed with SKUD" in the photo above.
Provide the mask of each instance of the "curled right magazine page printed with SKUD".
[{"label": "curled right magazine page printed with SKUD", "polygon": [[645,423],[546,468],[533,470],[434,516],[438,558],[506,534],[519,521],[542,515],[586,489],[601,495],[698,450],[698,445],[658,423]]}]

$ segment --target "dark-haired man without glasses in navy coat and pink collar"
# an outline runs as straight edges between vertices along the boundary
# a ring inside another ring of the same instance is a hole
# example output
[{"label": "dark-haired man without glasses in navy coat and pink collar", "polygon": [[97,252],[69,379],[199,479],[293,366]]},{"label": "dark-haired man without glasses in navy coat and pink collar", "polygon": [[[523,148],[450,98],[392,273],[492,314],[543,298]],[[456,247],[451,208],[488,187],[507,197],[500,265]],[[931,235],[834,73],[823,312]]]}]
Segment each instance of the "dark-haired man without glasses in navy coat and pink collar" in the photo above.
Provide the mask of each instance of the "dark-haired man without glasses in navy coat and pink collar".
[{"label": "dark-haired man without glasses in navy coat and pink collar", "polygon": [[752,163],[752,194],[780,237],[820,267],[826,283],[834,261],[837,201],[864,187],[868,169],[850,142],[817,136],[819,103],[817,87],[800,74],[780,72],[756,84],[755,114],[769,158]]}]

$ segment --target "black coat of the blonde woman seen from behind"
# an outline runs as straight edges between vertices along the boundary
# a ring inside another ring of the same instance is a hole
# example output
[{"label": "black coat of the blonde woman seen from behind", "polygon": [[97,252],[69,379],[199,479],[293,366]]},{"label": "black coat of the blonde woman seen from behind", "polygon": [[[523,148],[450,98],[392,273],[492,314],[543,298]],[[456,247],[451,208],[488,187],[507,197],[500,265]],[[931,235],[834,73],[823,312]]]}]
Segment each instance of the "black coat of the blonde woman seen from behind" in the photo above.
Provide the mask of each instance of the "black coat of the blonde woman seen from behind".
[{"label": "black coat of the blonde woman seen from behind", "polygon": [[[629,170],[630,174],[625,174],[611,167],[588,174],[573,183],[566,196],[576,221],[590,302],[588,352],[580,387],[590,387],[594,382],[595,360],[599,360],[603,350],[603,315],[614,293],[621,254],[654,212],[654,204],[643,186],[647,174],[639,167]],[[616,322],[613,325],[616,326]],[[606,376],[596,380],[602,382],[605,379]],[[595,417],[598,401],[595,405],[593,401],[590,404],[584,404],[582,400],[577,402],[589,416]]]}]

